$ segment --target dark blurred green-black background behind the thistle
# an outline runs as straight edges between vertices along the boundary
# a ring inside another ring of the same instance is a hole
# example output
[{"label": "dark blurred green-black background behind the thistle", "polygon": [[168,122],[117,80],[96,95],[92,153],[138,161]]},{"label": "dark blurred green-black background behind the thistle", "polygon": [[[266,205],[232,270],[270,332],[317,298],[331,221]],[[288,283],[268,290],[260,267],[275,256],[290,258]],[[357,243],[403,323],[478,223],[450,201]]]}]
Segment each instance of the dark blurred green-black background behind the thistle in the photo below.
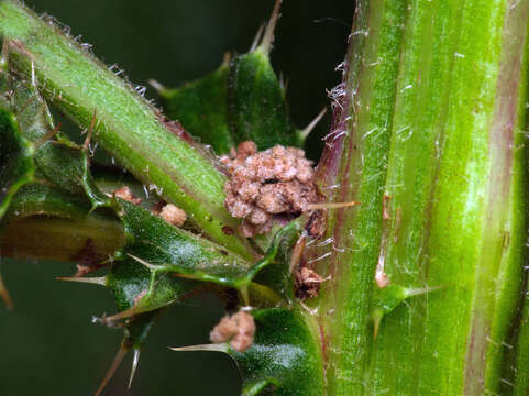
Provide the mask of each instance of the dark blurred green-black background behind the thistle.
[{"label": "dark blurred green-black background behind the thistle", "polygon": [[[82,34],[107,64],[119,64],[134,84],[153,78],[167,87],[214,69],[225,51],[246,52],[274,0],[27,0]],[[339,82],[334,68],[345,53],[353,0],[285,0],[272,62],[288,80],[294,122],[305,127],[329,103],[326,89]],[[154,98],[152,89],[146,96]],[[317,156],[324,118],[308,142]],[[92,324],[113,314],[110,294],[95,285],[54,280],[73,264],[2,260],[15,309],[0,305],[0,395],[92,395],[121,342],[121,331]],[[143,348],[131,391],[128,356],[104,395],[238,395],[235,365],[220,353],[167,349],[208,342],[223,315],[212,298],[168,309]]]}]

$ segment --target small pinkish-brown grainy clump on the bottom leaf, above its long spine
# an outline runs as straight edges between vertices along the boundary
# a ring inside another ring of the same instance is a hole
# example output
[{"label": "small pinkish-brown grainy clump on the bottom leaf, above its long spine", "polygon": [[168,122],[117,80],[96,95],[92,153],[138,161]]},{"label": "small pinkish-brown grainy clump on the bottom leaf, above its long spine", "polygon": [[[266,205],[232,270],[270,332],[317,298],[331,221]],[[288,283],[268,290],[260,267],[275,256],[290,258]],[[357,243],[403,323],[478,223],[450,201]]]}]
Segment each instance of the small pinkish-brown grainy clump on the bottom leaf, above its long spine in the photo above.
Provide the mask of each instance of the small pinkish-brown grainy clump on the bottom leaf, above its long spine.
[{"label": "small pinkish-brown grainy clump on the bottom leaf, above its long spine", "polygon": [[239,311],[232,316],[223,317],[219,324],[209,333],[213,343],[230,341],[231,346],[239,352],[244,352],[253,344],[255,321],[253,316]]}]

